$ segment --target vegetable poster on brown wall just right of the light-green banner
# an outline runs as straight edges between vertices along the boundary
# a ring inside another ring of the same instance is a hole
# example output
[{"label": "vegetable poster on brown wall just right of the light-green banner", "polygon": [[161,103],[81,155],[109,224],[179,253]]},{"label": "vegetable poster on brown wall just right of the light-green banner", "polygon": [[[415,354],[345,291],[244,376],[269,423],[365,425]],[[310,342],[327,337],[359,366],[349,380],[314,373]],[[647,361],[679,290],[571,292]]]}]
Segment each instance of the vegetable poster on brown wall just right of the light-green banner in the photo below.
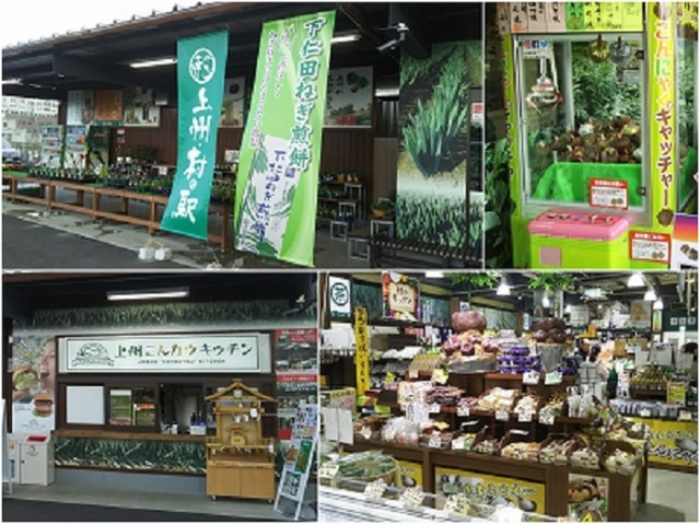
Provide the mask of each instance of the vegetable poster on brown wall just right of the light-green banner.
[{"label": "vegetable poster on brown wall just right of the light-green banner", "polygon": [[331,69],[328,73],[325,127],[372,127],[373,70]]}]

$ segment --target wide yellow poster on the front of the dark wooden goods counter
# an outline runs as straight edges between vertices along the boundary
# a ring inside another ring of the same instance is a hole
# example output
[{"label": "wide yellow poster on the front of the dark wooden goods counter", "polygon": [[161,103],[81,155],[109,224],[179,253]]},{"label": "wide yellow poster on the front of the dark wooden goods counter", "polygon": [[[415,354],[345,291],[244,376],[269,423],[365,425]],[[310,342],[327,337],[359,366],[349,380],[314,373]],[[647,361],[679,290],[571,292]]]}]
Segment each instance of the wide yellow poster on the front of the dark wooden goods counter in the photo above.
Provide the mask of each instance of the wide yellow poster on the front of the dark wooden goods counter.
[{"label": "wide yellow poster on the front of the dark wooden goods counter", "polygon": [[527,508],[535,513],[545,512],[545,485],[516,478],[435,467],[435,492],[464,492],[470,502],[511,508]]}]

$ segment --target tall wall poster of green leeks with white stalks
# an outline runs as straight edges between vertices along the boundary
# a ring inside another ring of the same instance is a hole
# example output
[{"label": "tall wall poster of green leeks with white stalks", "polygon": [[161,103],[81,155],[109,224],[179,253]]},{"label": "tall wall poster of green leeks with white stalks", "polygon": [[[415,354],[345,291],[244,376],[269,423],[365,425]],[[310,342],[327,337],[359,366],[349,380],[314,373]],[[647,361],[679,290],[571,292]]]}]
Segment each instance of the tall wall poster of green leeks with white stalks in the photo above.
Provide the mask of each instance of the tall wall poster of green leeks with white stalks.
[{"label": "tall wall poster of green leeks with white stalks", "polygon": [[481,42],[434,45],[432,56],[401,54],[396,235],[460,247],[469,241],[469,86],[481,85]]}]

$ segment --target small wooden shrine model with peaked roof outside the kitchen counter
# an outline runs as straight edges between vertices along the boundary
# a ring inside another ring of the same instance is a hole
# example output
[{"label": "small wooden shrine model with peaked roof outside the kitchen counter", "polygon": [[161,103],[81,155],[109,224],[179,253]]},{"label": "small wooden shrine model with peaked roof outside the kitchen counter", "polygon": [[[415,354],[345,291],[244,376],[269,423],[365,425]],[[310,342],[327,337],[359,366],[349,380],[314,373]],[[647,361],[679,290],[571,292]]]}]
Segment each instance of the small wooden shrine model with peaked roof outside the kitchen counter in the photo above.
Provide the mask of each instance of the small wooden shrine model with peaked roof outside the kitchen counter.
[{"label": "small wooden shrine model with peaked roof outside the kitchen counter", "polygon": [[209,395],[217,435],[207,438],[207,494],[275,499],[275,439],[262,438],[262,403],[272,397],[234,381]]}]

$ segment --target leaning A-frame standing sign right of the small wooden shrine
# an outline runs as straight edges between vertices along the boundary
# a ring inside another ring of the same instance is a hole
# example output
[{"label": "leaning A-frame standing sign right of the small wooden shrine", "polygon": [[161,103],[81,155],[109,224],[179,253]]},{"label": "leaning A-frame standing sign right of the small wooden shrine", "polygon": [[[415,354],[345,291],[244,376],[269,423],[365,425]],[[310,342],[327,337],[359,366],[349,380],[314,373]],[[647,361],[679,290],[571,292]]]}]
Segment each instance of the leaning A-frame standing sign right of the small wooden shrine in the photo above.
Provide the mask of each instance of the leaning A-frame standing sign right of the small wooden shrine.
[{"label": "leaning A-frame standing sign right of the small wooden shrine", "polygon": [[280,499],[294,501],[294,520],[299,520],[308,484],[308,474],[317,441],[318,406],[300,406],[292,428],[292,445],[287,454],[282,478],[275,499],[275,511],[279,510]]}]

